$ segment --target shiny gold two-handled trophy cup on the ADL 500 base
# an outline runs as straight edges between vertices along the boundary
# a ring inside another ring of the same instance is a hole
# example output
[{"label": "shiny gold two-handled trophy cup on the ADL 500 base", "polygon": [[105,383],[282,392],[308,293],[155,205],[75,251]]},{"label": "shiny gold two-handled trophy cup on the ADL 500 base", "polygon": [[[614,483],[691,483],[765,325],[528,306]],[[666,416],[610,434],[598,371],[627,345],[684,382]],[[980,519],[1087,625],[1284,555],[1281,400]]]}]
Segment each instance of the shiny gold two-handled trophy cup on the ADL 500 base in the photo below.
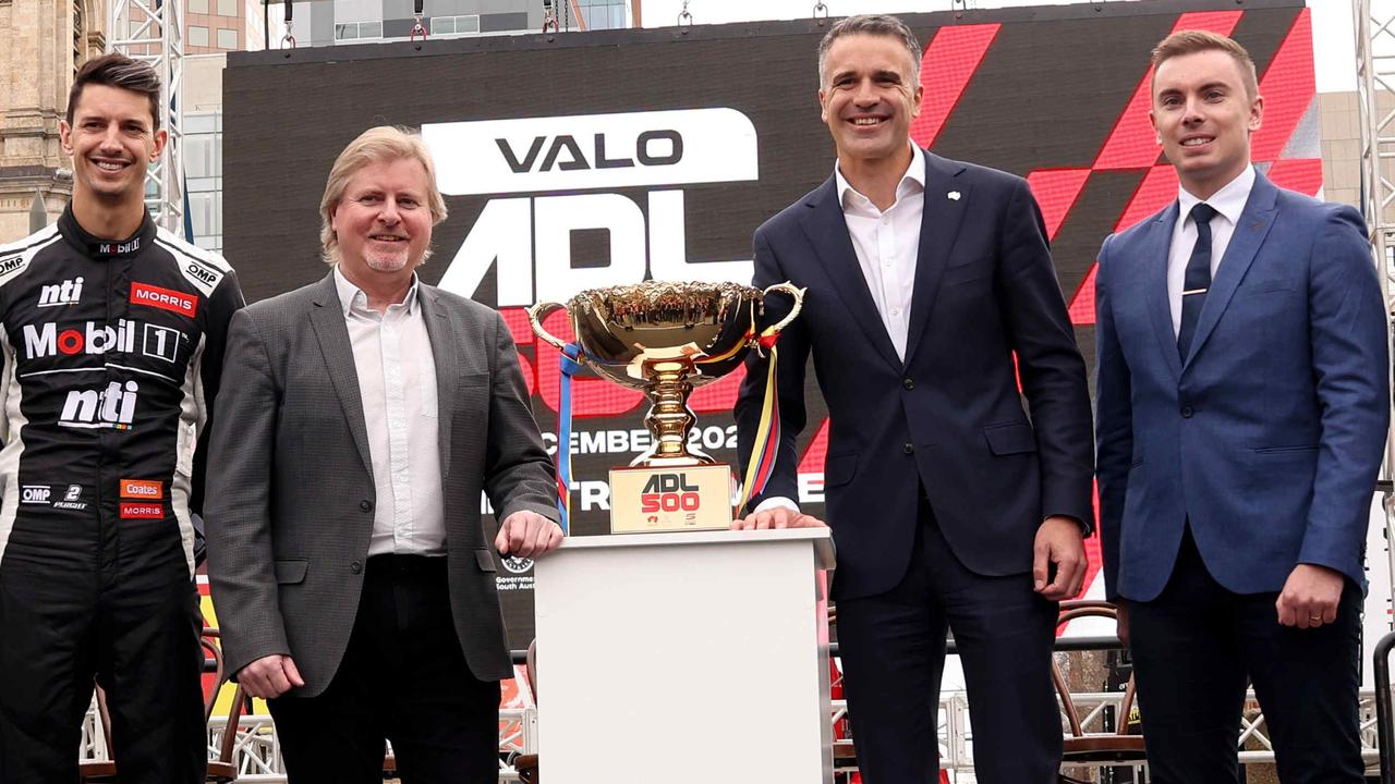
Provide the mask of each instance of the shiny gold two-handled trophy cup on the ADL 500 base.
[{"label": "shiny gold two-handled trophy cup on the ADL 500 base", "polygon": [[566,343],[541,321],[566,310],[576,335],[576,360],[649,398],[644,424],[654,444],[632,466],[698,466],[714,460],[688,444],[696,421],[688,395],[735,370],[757,346],[764,297],[771,292],[794,297],[794,308],[769,331],[778,333],[804,303],[804,289],[790,283],[760,290],[739,283],[647,280],[587,289],[565,306],[538,303],[527,312],[533,332],[565,353]]}]

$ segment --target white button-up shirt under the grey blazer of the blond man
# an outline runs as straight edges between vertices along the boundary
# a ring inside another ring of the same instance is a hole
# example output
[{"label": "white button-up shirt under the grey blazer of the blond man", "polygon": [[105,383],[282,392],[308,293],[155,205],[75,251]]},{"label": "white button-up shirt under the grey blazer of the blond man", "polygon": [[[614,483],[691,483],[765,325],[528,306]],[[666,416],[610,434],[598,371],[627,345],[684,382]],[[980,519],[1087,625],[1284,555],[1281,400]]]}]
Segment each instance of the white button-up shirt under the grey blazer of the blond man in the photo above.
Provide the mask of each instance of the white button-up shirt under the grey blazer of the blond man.
[{"label": "white button-up shirt under the grey blazer of the blond man", "polygon": [[402,303],[378,312],[338,266],[333,273],[378,497],[368,555],[444,555],[435,357],[417,301],[417,278],[412,276]]}]

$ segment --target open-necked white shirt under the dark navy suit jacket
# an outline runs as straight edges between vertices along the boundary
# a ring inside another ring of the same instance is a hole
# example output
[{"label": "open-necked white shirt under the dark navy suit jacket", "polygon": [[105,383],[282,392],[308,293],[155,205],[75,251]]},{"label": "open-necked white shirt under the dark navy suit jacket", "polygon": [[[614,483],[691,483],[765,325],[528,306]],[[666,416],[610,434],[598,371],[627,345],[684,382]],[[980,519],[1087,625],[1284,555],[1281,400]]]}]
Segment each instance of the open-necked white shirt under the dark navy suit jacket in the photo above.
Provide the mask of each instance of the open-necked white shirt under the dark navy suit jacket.
[{"label": "open-necked white shirt under the dark navy suit jacket", "polygon": [[911,165],[896,186],[896,201],[886,211],[858,193],[837,165],[833,166],[833,180],[862,278],[896,346],[896,356],[905,360],[915,258],[921,251],[921,216],[925,212],[925,153],[911,145]]}]

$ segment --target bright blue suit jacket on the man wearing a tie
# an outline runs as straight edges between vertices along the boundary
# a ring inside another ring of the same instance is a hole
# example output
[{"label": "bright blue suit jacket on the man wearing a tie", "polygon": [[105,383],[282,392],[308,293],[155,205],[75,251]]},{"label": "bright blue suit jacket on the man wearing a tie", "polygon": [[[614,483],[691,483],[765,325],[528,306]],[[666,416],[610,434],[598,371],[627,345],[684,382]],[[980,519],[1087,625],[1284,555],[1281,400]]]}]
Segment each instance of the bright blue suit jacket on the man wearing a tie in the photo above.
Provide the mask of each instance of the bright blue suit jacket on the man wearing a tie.
[{"label": "bright blue suit jacket on the man wearing a tie", "polygon": [[1099,251],[1109,597],[1155,598],[1187,520],[1207,569],[1235,593],[1278,591],[1297,564],[1364,585],[1389,367],[1360,216],[1257,176],[1186,361],[1166,286],[1176,220],[1173,202]]}]

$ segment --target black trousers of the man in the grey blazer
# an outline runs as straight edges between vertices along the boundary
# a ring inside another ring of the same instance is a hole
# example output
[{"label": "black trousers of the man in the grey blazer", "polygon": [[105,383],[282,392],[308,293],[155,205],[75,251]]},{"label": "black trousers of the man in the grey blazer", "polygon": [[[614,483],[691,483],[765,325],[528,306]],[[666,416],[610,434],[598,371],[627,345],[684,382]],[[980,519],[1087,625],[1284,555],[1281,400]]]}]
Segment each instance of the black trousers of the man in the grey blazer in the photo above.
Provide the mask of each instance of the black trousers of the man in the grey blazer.
[{"label": "black trousers of the man in the grey blazer", "polygon": [[451,619],[445,558],[368,559],[349,647],[314,698],[268,702],[292,784],[495,784],[499,684],[477,681]]}]

